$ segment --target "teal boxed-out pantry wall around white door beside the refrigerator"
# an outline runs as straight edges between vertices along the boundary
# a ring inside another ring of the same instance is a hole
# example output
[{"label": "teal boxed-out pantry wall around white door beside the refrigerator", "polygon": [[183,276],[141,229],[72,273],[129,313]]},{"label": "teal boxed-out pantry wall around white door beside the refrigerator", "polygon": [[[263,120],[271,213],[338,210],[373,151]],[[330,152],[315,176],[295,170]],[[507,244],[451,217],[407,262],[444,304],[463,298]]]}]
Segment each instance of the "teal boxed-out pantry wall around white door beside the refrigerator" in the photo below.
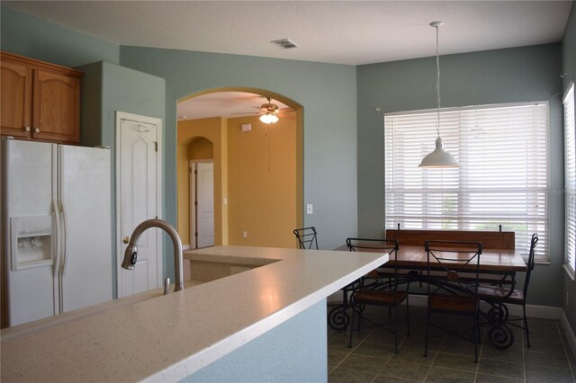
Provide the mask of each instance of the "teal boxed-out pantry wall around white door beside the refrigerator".
[{"label": "teal boxed-out pantry wall around white door beside the refrigerator", "polygon": [[[116,231],[116,111],[165,120],[166,82],[127,67],[104,61],[78,67],[82,80],[82,133],[86,146],[103,145],[112,150],[112,270],[116,270],[115,246],[119,237],[131,233]],[[166,241],[165,241],[166,242]],[[166,271],[166,257],[163,270]],[[172,261],[174,262],[174,260]],[[112,275],[113,297],[117,297],[116,274]]]}]

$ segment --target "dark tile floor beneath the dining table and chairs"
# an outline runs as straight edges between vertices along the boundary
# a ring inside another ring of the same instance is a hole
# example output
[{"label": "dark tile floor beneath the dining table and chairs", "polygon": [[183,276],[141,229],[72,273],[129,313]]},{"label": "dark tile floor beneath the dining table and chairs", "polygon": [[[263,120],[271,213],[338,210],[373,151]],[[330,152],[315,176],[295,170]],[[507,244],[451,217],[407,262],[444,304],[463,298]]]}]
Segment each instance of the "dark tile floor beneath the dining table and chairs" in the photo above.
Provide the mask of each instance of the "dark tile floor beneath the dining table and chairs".
[{"label": "dark tile floor beneath the dining table and chairs", "polygon": [[[376,311],[377,310],[377,311]],[[405,312],[404,309],[401,310]],[[387,308],[366,307],[366,316],[392,319]],[[463,317],[435,316],[452,330],[464,329]],[[488,341],[487,325],[482,326],[479,361],[474,363],[473,343],[455,335],[433,331],[424,357],[426,308],[410,307],[410,337],[406,323],[399,325],[398,353],[394,337],[380,327],[362,322],[354,332],[352,348],[349,332],[329,329],[329,382],[572,382],[576,357],[558,320],[530,318],[530,343],[526,347],[523,330],[514,329],[515,342],[509,349],[497,350]],[[356,325],[355,325],[356,327]],[[464,333],[463,333],[464,334]],[[469,333],[467,333],[469,334]],[[486,338],[486,339],[484,339]]]}]

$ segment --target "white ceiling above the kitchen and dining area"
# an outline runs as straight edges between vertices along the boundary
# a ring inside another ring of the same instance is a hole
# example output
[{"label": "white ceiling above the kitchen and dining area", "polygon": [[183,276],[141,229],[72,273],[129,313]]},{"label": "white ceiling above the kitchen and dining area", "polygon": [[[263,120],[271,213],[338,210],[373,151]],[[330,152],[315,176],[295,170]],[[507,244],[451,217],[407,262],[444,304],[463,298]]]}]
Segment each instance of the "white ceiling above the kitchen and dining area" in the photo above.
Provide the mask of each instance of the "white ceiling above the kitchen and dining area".
[{"label": "white ceiling above the kitchen and dining area", "polygon": [[[440,27],[441,55],[557,42],[563,38],[572,1],[2,1],[2,5],[119,45],[363,65],[434,56],[436,33],[428,25],[433,21],[445,22]],[[284,38],[299,48],[280,49],[270,42]]]}]

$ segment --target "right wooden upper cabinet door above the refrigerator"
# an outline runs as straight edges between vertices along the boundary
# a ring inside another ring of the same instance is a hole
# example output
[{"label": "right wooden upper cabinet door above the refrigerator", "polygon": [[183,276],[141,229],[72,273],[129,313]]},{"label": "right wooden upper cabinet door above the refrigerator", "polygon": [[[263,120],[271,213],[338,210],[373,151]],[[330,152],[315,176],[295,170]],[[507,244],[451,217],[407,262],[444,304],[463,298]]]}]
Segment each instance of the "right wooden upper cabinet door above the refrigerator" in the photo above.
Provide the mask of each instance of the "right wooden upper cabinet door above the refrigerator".
[{"label": "right wooden upper cabinet door above the refrigerator", "polygon": [[80,79],[33,70],[32,138],[78,143]]}]

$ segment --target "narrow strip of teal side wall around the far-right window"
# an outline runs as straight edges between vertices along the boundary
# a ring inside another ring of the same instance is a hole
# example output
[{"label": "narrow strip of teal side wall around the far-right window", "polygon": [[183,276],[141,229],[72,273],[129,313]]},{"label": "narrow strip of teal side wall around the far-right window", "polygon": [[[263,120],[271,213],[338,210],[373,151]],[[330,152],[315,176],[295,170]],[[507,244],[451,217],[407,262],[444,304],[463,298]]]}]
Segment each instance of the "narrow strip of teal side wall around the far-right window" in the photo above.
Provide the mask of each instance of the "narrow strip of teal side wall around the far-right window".
[{"label": "narrow strip of teal side wall around the far-right window", "polygon": [[[566,90],[572,82],[576,82],[576,5],[572,3],[572,11],[568,18],[568,24],[564,31],[562,43],[562,69],[563,73],[571,73],[563,77],[563,89]],[[568,317],[572,332],[576,334],[576,283],[570,279],[567,273],[563,274],[563,308]],[[570,297],[566,302],[565,295]]]}]

